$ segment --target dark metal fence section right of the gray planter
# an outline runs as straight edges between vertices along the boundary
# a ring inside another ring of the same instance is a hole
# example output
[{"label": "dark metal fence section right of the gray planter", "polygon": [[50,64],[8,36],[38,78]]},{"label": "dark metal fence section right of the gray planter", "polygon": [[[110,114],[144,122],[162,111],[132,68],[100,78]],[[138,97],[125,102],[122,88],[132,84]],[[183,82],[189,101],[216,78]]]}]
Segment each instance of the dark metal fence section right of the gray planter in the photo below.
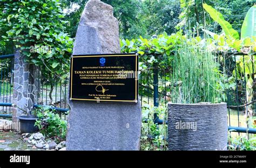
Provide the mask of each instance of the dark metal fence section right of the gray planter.
[{"label": "dark metal fence section right of the gray planter", "polygon": [[[234,89],[227,90],[228,125],[230,130],[256,134],[255,129],[255,73],[254,55],[221,53],[225,60],[226,74],[235,79]],[[236,64],[236,62],[239,64]],[[248,86],[249,85],[249,86]],[[251,123],[250,120],[251,118]],[[254,125],[254,126],[253,126]]]}]

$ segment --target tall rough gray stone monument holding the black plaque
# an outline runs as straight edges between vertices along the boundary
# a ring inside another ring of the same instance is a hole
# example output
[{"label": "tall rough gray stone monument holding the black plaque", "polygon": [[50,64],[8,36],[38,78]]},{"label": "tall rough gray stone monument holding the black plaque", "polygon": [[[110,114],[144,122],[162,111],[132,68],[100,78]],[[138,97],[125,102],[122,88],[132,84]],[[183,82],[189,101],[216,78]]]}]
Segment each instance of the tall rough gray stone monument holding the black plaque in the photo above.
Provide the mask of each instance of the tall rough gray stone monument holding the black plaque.
[{"label": "tall rough gray stone monument holding the black plaque", "polygon": [[[120,53],[113,8],[89,1],[78,26],[73,55]],[[69,101],[67,150],[139,150],[140,103]]]}]

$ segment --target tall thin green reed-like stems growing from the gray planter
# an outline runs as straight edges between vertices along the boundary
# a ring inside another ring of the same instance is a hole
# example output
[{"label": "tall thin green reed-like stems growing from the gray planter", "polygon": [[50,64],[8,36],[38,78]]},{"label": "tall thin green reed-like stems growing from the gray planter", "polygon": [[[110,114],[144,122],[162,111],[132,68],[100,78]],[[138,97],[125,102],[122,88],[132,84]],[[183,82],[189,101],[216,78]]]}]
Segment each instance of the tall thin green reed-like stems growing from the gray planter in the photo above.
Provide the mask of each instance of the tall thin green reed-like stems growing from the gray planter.
[{"label": "tall thin green reed-like stems growing from the gray planter", "polygon": [[172,66],[173,103],[219,103],[225,99],[221,92],[218,57],[205,46],[184,41]]}]

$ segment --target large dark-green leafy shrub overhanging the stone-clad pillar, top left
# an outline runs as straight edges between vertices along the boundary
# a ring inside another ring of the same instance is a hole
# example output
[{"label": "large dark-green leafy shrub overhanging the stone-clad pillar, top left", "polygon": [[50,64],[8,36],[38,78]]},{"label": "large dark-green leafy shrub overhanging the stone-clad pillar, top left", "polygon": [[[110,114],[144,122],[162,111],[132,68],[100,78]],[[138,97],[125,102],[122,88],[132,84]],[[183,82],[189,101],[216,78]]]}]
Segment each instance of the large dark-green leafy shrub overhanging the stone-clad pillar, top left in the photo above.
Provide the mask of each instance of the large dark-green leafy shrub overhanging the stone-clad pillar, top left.
[{"label": "large dark-green leafy shrub overhanging the stone-clad pillar, top left", "polygon": [[1,5],[0,27],[5,43],[14,43],[27,61],[65,79],[73,39],[65,33],[67,22],[63,20],[59,0],[24,0]]}]

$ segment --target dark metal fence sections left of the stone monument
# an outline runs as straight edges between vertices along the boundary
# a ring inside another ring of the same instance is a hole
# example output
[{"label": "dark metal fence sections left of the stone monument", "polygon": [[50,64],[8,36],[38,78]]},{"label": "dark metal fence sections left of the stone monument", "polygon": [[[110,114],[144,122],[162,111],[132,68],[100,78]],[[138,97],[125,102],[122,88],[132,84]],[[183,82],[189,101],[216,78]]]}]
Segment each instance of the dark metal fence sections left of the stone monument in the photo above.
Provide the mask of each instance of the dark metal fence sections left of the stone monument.
[{"label": "dark metal fence sections left of the stone monument", "polygon": [[[45,73],[45,67],[39,66],[38,92],[34,108],[49,106],[66,120],[69,79]],[[68,72],[67,72],[68,73]],[[14,82],[14,54],[0,55],[0,117],[12,117],[12,88]]]}]

